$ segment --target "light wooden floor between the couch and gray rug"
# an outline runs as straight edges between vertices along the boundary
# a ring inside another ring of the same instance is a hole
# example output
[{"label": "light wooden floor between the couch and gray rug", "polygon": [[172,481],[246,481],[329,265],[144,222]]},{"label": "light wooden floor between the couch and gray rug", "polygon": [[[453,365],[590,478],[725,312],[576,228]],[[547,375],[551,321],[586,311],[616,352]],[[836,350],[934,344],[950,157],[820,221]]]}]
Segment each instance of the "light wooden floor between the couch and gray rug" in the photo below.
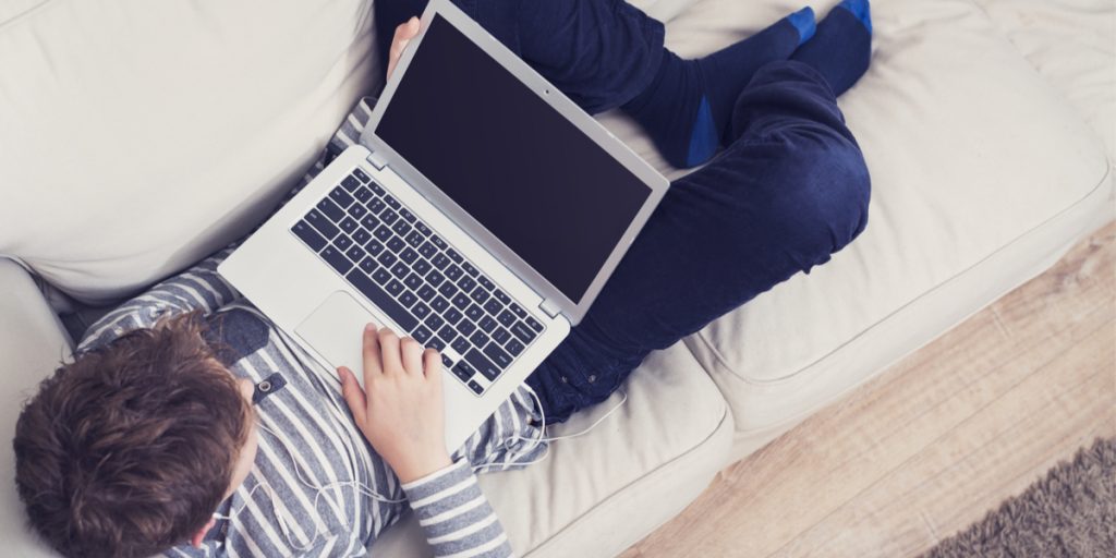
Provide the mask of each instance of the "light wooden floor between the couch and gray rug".
[{"label": "light wooden floor between the couch and gray rug", "polygon": [[720,473],[624,558],[914,556],[1116,435],[1116,223]]}]

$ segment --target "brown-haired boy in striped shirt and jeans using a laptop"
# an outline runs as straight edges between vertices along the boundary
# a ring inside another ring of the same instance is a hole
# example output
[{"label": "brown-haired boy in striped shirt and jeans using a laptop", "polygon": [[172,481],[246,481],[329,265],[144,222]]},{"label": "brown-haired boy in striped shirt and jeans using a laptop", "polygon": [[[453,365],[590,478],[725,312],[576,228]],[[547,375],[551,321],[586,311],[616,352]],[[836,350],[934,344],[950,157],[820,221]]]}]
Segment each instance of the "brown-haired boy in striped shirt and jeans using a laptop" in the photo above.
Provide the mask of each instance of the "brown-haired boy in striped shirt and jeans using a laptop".
[{"label": "brown-haired boy in striped shirt and jeans using a laptop", "polygon": [[[668,161],[724,147],[672,185],[528,381],[548,417],[607,397],[651,350],[864,229],[867,171],[835,96],[867,66],[866,0],[816,26],[796,12],[701,60],[663,48],[661,23],[614,0],[462,3],[587,110],[631,114]],[[421,9],[376,7],[378,21]],[[415,20],[397,29],[389,68],[416,32]],[[354,116],[363,125],[367,106]],[[15,446],[32,527],[68,556],[348,556],[407,500],[436,555],[510,555],[473,470],[545,451],[528,388],[451,458],[435,352],[371,327],[363,371],[323,371],[215,273],[229,250],[92,326],[27,404]]]}]

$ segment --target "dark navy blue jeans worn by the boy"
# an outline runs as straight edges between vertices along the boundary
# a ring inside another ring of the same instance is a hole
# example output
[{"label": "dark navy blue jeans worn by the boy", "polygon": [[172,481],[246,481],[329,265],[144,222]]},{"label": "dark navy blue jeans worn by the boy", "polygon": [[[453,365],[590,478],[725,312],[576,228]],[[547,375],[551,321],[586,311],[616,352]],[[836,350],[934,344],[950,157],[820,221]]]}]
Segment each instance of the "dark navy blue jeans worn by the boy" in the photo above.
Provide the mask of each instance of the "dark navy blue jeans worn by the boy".
[{"label": "dark navy blue jeans worn by the boy", "polygon": [[[455,1],[589,113],[623,105],[657,69],[662,23],[623,1]],[[424,6],[377,1],[381,38]],[[671,184],[588,314],[528,378],[548,421],[607,398],[652,350],[809,272],[864,230],[868,171],[817,71],[763,66],[732,118],[733,143]]]}]

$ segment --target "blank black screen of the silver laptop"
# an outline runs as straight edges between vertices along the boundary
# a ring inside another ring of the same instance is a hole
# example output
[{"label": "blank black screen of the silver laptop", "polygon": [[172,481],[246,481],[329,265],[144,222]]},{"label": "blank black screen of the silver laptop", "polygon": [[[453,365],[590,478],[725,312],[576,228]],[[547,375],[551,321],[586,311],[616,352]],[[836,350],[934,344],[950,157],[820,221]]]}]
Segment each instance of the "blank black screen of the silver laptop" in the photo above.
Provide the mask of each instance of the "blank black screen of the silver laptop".
[{"label": "blank black screen of the silver laptop", "polygon": [[375,133],[575,302],[652,193],[439,15]]}]

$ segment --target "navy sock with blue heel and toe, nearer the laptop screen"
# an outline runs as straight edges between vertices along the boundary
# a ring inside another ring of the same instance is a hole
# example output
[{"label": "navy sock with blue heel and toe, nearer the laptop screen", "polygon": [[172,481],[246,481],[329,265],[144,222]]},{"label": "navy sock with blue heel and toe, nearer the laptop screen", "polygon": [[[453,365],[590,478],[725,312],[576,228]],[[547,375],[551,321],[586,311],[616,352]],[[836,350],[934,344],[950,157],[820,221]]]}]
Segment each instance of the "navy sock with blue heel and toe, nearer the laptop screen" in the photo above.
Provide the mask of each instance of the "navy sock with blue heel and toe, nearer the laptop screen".
[{"label": "navy sock with blue heel and toe, nearer the laptop screen", "polygon": [[728,143],[733,104],[756,70],[786,60],[814,32],[814,10],[804,8],[701,59],[683,60],[663,49],[651,84],[623,108],[672,165],[700,165]]}]

